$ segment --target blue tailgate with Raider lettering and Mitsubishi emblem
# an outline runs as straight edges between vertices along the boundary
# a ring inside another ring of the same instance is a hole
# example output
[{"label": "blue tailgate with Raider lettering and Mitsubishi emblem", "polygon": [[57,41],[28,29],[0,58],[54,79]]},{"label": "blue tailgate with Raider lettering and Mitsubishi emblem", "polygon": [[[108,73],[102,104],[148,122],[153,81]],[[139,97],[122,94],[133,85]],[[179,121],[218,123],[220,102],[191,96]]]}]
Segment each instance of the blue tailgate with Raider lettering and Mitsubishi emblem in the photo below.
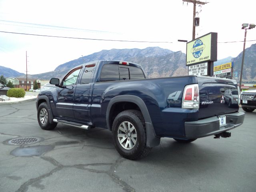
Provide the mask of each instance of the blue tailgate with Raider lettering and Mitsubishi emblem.
[{"label": "blue tailgate with Raider lettering and Mitsubishi emblem", "polygon": [[[238,90],[235,80],[204,76],[197,77],[197,80],[200,99],[199,119],[238,111],[239,96],[224,96],[226,90]],[[232,100],[231,105],[230,100]]]}]

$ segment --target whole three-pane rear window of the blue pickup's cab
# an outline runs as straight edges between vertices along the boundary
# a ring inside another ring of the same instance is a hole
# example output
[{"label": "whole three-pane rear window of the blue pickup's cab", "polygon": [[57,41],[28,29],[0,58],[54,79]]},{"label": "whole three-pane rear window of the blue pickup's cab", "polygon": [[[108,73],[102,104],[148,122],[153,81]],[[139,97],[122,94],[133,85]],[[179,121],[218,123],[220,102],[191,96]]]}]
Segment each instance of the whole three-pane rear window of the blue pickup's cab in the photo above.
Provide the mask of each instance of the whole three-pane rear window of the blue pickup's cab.
[{"label": "whole three-pane rear window of the blue pickup's cab", "polygon": [[115,64],[105,64],[100,74],[101,82],[144,78],[145,76],[141,68]]}]

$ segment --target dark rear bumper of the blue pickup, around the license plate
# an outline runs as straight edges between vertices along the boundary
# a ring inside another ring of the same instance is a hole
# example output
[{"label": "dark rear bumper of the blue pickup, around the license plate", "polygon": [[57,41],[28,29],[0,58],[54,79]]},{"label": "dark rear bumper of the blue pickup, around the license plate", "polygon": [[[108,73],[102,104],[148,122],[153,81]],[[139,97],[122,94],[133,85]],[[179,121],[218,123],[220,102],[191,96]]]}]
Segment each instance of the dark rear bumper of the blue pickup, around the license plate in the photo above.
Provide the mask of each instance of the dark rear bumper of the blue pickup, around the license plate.
[{"label": "dark rear bumper of the blue pickup, around the license plate", "polygon": [[216,135],[234,129],[244,122],[244,112],[225,114],[225,116],[226,126],[223,127],[220,127],[220,120],[217,116],[198,121],[185,122],[186,138],[194,139]]}]

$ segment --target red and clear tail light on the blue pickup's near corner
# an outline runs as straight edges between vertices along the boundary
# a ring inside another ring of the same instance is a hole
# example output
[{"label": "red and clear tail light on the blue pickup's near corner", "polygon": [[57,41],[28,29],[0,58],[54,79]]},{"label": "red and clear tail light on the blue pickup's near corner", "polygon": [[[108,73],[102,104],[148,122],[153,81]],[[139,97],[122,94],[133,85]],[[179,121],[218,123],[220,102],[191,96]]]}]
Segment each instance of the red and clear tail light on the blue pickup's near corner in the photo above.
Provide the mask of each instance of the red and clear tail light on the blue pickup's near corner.
[{"label": "red and clear tail light on the blue pickup's near corner", "polygon": [[199,89],[198,84],[187,85],[184,89],[182,98],[182,108],[198,109],[199,108]]}]

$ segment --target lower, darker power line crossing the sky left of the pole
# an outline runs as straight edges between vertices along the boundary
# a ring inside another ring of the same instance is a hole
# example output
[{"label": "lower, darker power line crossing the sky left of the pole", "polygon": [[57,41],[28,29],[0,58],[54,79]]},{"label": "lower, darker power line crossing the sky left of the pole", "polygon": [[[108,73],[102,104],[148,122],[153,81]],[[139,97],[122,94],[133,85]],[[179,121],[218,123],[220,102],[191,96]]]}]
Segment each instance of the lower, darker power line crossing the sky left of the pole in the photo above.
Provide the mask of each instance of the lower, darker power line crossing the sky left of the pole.
[{"label": "lower, darker power line crossing the sky left of the pole", "polygon": [[11,34],[21,34],[21,35],[42,36],[42,37],[56,37],[56,38],[98,40],[98,41],[119,41],[119,42],[139,42],[139,43],[172,43],[172,42],[157,42],[157,41],[129,41],[129,40],[112,40],[112,39],[93,39],[93,38],[65,37],[65,36],[52,36],[52,35],[40,35],[40,34],[16,33],[16,32],[7,32],[7,31],[0,31],[0,32],[2,32],[2,33],[11,33]]}]

